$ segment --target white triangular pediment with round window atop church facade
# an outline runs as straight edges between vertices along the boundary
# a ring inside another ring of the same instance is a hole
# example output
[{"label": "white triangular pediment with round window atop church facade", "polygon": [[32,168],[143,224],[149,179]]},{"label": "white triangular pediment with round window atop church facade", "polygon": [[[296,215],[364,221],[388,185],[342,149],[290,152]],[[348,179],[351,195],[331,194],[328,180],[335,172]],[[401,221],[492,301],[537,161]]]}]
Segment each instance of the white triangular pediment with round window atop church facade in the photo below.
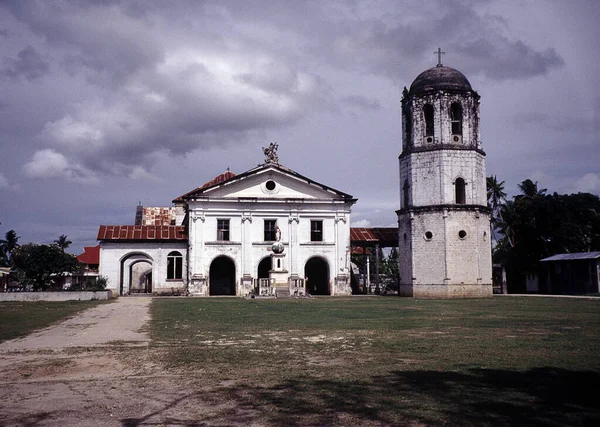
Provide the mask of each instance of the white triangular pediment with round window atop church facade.
[{"label": "white triangular pediment with round window atop church facade", "polygon": [[236,175],[224,182],[199,188],[184,199],[260,198],[352,200],[352,196],[306,178],[280,165],[266,164]]}]

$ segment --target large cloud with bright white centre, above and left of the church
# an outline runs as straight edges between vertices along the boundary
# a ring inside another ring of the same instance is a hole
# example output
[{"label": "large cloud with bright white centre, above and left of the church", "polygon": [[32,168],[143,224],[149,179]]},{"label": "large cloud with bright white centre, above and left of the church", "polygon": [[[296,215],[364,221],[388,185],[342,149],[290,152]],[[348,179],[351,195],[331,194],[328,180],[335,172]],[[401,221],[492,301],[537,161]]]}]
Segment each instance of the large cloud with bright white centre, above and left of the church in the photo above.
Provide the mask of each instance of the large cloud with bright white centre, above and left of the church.
[{"label": "large cloud with bright white centre, above and left of the church", "polygon": [[[206,13],[191,4],[189,21],[185,3],[169,11],[132,2],[10,6],[71,78],[101,89],[40,129],[40,150],[24,168],[30,177],[121,174],[151,166],[154,152],[181,155],[232,134],[239,141],[329,104],[318,75],[233,29],[225,40],[229,24],[218,4]],[[164,13],[181,27],[166,25]]]}]

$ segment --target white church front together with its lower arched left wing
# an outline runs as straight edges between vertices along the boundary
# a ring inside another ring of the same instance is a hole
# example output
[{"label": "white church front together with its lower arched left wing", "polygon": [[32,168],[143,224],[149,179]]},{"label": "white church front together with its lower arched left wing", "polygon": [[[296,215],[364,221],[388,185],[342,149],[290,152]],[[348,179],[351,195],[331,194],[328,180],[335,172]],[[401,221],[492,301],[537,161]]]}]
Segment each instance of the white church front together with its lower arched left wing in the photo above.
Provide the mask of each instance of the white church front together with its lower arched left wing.
[{"label": "white church front together with its lower arched left wing", "polygon": [[[127,226],[125,231],[115,226],[110,233],[102,226],[100,274],[108,278],[109,288],[121,295],[247,296],[256,290],[257,279],[271,278],[270,285],[292,294],[298,286],[301,293],[351,293],[350,209],[355,199],[276,163],[221,178],[174,200],[186,206],[182,223]],[[173,237],[177,228],[185,232],[184,240]],[[143,236],[136,237],[135,230]],[[276,240],[284,250],[272,265]],[[182,260],[174,261],[173,253]],[[181,262],[181,275],[173,262]]]}]

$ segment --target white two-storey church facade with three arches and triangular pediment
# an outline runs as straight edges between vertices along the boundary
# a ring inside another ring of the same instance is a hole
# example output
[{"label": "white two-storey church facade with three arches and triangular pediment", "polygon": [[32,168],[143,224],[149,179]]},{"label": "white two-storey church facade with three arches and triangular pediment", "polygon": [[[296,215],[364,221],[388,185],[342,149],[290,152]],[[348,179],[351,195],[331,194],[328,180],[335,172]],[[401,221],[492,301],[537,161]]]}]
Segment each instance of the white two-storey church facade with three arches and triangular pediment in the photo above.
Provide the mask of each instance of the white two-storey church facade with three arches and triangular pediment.
[{"label": "white two-storey church facade with three arches and triangular pediment", "polygon": [[[269,222],[280,230],[285,248],[280,268],[288,277],[308,279],[311,293],[350,294],[350,207],[355,202],[350,196],[267,164],[185,199],[193,294],[234,293],[211,288],[211,267],[220,257],[231,261],[235,294],[247,294],[259,265],[273,253],[275,238],[265,236]],[[228,224],[226,237],[219,222]],[[311,233],[314,224],[320,224],[320,236]],[[310,277],[310,260],[326,267],[327,277]]]}]

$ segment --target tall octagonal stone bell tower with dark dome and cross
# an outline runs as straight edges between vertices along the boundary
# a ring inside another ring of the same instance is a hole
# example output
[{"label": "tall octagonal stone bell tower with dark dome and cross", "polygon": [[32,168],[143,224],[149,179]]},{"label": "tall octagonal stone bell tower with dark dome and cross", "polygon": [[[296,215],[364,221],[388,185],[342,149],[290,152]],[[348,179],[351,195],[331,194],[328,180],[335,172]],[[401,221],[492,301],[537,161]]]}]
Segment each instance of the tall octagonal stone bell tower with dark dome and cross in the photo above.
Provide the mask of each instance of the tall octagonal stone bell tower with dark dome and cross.
[{"label": "tall octagonal stone bell tower with dark dome and cross", "polygon": [[480,97],[436,53],[438,65],[419,74],[402,97],[400,294],[491,296]]}]

